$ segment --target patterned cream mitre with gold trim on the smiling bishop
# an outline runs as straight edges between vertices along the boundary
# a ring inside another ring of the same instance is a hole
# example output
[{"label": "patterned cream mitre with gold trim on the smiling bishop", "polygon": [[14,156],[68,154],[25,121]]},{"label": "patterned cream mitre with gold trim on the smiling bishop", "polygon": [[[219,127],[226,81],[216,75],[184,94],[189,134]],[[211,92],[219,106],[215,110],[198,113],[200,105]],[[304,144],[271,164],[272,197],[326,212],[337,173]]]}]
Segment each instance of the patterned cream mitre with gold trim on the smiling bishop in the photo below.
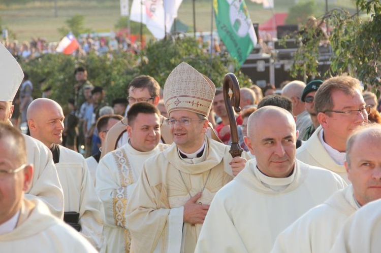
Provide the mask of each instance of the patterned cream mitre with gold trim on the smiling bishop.
[{"label": "patterned cream mitre with gold trim on the smiling bishop", "polygon": [[213,82],[195,68],[181,62],[169,74],[164,85],[164,102],[168,115],[185,110],[208,117],[215,93]]}]

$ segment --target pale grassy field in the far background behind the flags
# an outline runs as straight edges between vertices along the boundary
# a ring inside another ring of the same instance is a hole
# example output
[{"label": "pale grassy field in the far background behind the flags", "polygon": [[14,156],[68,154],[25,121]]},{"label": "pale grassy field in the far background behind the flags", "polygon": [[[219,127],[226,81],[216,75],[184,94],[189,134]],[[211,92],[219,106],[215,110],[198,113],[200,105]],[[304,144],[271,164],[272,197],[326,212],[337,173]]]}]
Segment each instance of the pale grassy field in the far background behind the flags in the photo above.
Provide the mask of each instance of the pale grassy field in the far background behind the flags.
[{"label": "pale grassy field in the far background behind the flags", "polygon": [[[295,0],[274,0],[276,12],[288,12]],[[299,0],[302,1],[302,0]],[[130,0],[131,4],[132,0]],[[325,0],[320,0],[317,12],[325,11]],[[329,0],[329,7],[354,7],[353,0]],[[271,10],[265,10],[262,5],[246,0],[250,17],[253,22],[263,23],[272,16]],[[19,41],[30,40],[31,37],[43,37],[49,42],[58,41],[61,34],[58,28],[65,26],[65,21],[75,14],[85,16],[85,27],[94,31],[104,32],[114,30],[114,25],[120,17],[119,2],[98,3],[58,0],[58,17],[54,17],[53,1],[28,5],[0,5],[0,17],[3,26],[12,30]],[[178,18],[193,27],[192,0],[183,0],[178,12]],[[214,20],[213,20],[214,22]],[[196,30],[210,31],[211,2],[196,0]],[[215,29],[215,25],[213,26]],[[192,28],[193,31],[193,28]]]}]

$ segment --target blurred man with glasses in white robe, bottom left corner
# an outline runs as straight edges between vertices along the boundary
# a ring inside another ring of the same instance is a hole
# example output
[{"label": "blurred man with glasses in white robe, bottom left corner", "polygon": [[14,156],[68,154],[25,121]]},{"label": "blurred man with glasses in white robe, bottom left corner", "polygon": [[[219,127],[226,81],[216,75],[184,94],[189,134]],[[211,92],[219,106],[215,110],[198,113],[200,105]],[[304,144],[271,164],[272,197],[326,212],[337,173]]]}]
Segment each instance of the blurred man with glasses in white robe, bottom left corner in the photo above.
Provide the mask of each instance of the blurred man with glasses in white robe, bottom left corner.
[{"label": "blurred man with glasses in white robe, bottom left corner", "polygon": [[98,252],[55,218],[39,198],[27,200],[33,165],[23,135],[0,122],[0,248],[2,252]]}]

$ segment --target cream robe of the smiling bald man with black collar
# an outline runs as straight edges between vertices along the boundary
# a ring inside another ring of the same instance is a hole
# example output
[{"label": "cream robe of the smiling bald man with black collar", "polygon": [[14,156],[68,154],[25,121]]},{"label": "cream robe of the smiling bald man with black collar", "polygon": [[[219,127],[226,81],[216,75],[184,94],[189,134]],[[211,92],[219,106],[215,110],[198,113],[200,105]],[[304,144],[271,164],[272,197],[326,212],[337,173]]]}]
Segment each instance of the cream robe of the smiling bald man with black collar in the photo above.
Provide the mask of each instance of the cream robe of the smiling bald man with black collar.
[{"label": "cream robe of the smiling bald man with black collar", "polygon": [[103,244],[104,213],[83,156],[59,146],[55,164],[65,196],[65,211],[79,213],[80,233],[97,249]]}]

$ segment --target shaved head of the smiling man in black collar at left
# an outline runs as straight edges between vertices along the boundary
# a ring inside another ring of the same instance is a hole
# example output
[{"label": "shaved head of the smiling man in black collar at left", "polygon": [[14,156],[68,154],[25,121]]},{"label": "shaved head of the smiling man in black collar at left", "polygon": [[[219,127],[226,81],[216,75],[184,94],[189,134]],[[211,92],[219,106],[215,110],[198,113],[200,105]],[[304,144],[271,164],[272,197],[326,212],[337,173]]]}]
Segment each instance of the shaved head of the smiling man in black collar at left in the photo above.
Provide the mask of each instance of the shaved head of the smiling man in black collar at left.
[{"label": "shaved head of the smiling man in black collar at left", "polygon": [[63,116],[61,106],[49,98],[31,102],[26,113],[30,135],[42,141],[48,148],[62,142]]}]

